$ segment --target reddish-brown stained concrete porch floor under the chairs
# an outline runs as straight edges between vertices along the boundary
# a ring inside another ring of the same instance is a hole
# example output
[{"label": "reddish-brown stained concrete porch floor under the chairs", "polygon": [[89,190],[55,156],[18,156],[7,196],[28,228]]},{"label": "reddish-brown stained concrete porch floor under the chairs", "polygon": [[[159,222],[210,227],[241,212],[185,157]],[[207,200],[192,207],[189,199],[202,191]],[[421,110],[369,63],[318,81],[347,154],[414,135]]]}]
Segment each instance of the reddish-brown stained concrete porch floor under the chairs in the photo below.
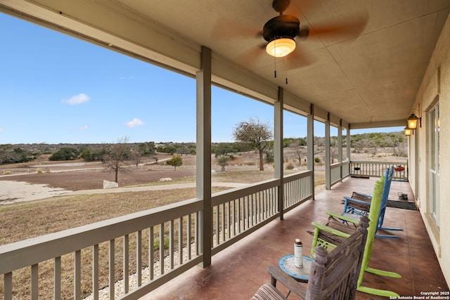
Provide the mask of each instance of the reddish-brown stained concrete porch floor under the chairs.
[{"label": "reddish-brown stained concrete porch floor under the chairs", "polygon": [[[342,211],[341,200],[353,190],[372,193],[378,178],[347,178],[316,195],[233,246],[212,257],[207,268],[195,267],[142,297],[150,299],[250,299],[259,286],[270,282],[266,271],[278,259],[293,253],[295,238],[303,241],[304,254],[311,250],[311,222],[326,221],[326,211]],[[398,200],[397,192],[407,193],[413,202],[409,183],[392,181],[389,200]],[[382,232],[398,235],[398,239],[375,238],[369,266],[401,274],[402,278],[387,278],[365,273],[363,285],[397,292],[400,296],[421,296],[421,292],[449,291],[433,251],[419,211],[387,207],[384,226],[404,231]],[[281,285],[278,288],[285,292]],[[289,299],[300,299],[291,294]],[[356,299],[386,299],[357,292]]]}]

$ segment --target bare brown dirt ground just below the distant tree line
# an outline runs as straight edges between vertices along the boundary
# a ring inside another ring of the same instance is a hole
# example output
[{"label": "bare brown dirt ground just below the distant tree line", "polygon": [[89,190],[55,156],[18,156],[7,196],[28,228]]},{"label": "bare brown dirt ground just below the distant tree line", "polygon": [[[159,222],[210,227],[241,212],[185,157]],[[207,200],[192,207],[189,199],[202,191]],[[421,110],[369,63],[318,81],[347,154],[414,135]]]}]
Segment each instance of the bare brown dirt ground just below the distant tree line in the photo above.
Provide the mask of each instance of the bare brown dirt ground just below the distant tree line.
[{"label": "bare brown dirt ground just below the distant tree line", "polygon": [[[161,178],[184,178],[186,176],[195,176],[195,155],[184,155],[183,165],[176,170],[165,164],[165,159],[171,155],[159,155],[158,164],[153,159],[143,161],[139,167],[129,167],[129,173],[120,173],[118,176],[119,185],[141,185],[160,181]],[[352,159],[367,160],[366,154],[352,153]],[[378,155],[373,157],[375,160],[397,160],[391,155]],[[398,158],[400,159],[400,158]],[[257,170],[257,153],[246,152],[236,156],[236,159],[229,162],[227,171],[236,169]],[[212,157],[212,169],[220,171],[220,167],[215,164]],[[271,166],[267,166],[270,168]],[[94,190],[103,188],[103,180],[114,181],[115,174],[103,171],[104,166],[101,163],[86,163],[82,160],[71,162],[50,162],[48,157],[30,162],[28,164],[15,164],[0,166],[0,181],[19,181],[31,184],[47,185],[49,188],[59,188],[64,190]],[[37,173],[37,170],[41,170]],[[63,171],[63,170],[72,171]],[[73,171],[73,170],[79,171]],[[12,170],[11,172],[8,170]],[[15,175],[17,174],[17,175]]]}]

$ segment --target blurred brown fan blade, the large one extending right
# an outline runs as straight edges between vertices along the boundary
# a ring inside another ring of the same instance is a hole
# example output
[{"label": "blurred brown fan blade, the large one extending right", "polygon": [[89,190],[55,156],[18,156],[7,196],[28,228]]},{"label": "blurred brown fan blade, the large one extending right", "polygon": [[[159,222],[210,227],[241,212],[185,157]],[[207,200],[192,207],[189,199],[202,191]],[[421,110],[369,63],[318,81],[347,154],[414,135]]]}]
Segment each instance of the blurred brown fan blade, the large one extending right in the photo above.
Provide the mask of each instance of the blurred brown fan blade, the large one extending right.
[{"label": "blurred brown fan blade, the large one extending right", "polygon": [[319,26],[311,26],[307,37],[357,37],[363,32],[368,21],[368,15],[342,20],[341,22],[330,22]]}]

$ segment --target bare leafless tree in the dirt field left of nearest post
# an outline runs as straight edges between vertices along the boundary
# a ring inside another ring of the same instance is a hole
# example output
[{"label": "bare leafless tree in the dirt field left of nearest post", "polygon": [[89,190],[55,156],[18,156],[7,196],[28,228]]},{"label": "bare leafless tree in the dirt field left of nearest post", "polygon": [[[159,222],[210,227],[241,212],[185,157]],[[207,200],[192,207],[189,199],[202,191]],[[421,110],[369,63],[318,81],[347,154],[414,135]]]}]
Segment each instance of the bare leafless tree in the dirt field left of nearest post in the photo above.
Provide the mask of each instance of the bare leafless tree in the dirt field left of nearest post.
[{"label": "bare leafless tree in the dirt field left of nearest post", "polygon": [[105,155],[105,171],[115,173],[115,182],[118,181],[119,172],[129,173],[130,169],[126,168],[125,162],[129,159],[130,146],[128,137],[123,136],[117,143],[110,146],[110,151]]}]

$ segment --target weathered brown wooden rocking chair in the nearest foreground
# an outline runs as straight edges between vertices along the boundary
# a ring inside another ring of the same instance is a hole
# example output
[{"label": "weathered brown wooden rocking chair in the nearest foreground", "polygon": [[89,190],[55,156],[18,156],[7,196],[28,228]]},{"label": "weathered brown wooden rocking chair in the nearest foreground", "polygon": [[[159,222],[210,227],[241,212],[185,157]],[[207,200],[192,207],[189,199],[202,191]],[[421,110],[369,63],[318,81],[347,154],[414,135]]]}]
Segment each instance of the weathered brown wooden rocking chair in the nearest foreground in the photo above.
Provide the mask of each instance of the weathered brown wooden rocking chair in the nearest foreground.
[{"label": "weathered brown wooden rocking chair in the nearest foreground", "polygon": [[354,299],[367,238],[368,218],[361,217],[359,228],[342,244],[328,253],[316,247],[307,286],[297,282],[278,266],[269,266],[271,283],[259,287],[252,300],[287,299],[276,289],[276,282],[307,300]]}]

